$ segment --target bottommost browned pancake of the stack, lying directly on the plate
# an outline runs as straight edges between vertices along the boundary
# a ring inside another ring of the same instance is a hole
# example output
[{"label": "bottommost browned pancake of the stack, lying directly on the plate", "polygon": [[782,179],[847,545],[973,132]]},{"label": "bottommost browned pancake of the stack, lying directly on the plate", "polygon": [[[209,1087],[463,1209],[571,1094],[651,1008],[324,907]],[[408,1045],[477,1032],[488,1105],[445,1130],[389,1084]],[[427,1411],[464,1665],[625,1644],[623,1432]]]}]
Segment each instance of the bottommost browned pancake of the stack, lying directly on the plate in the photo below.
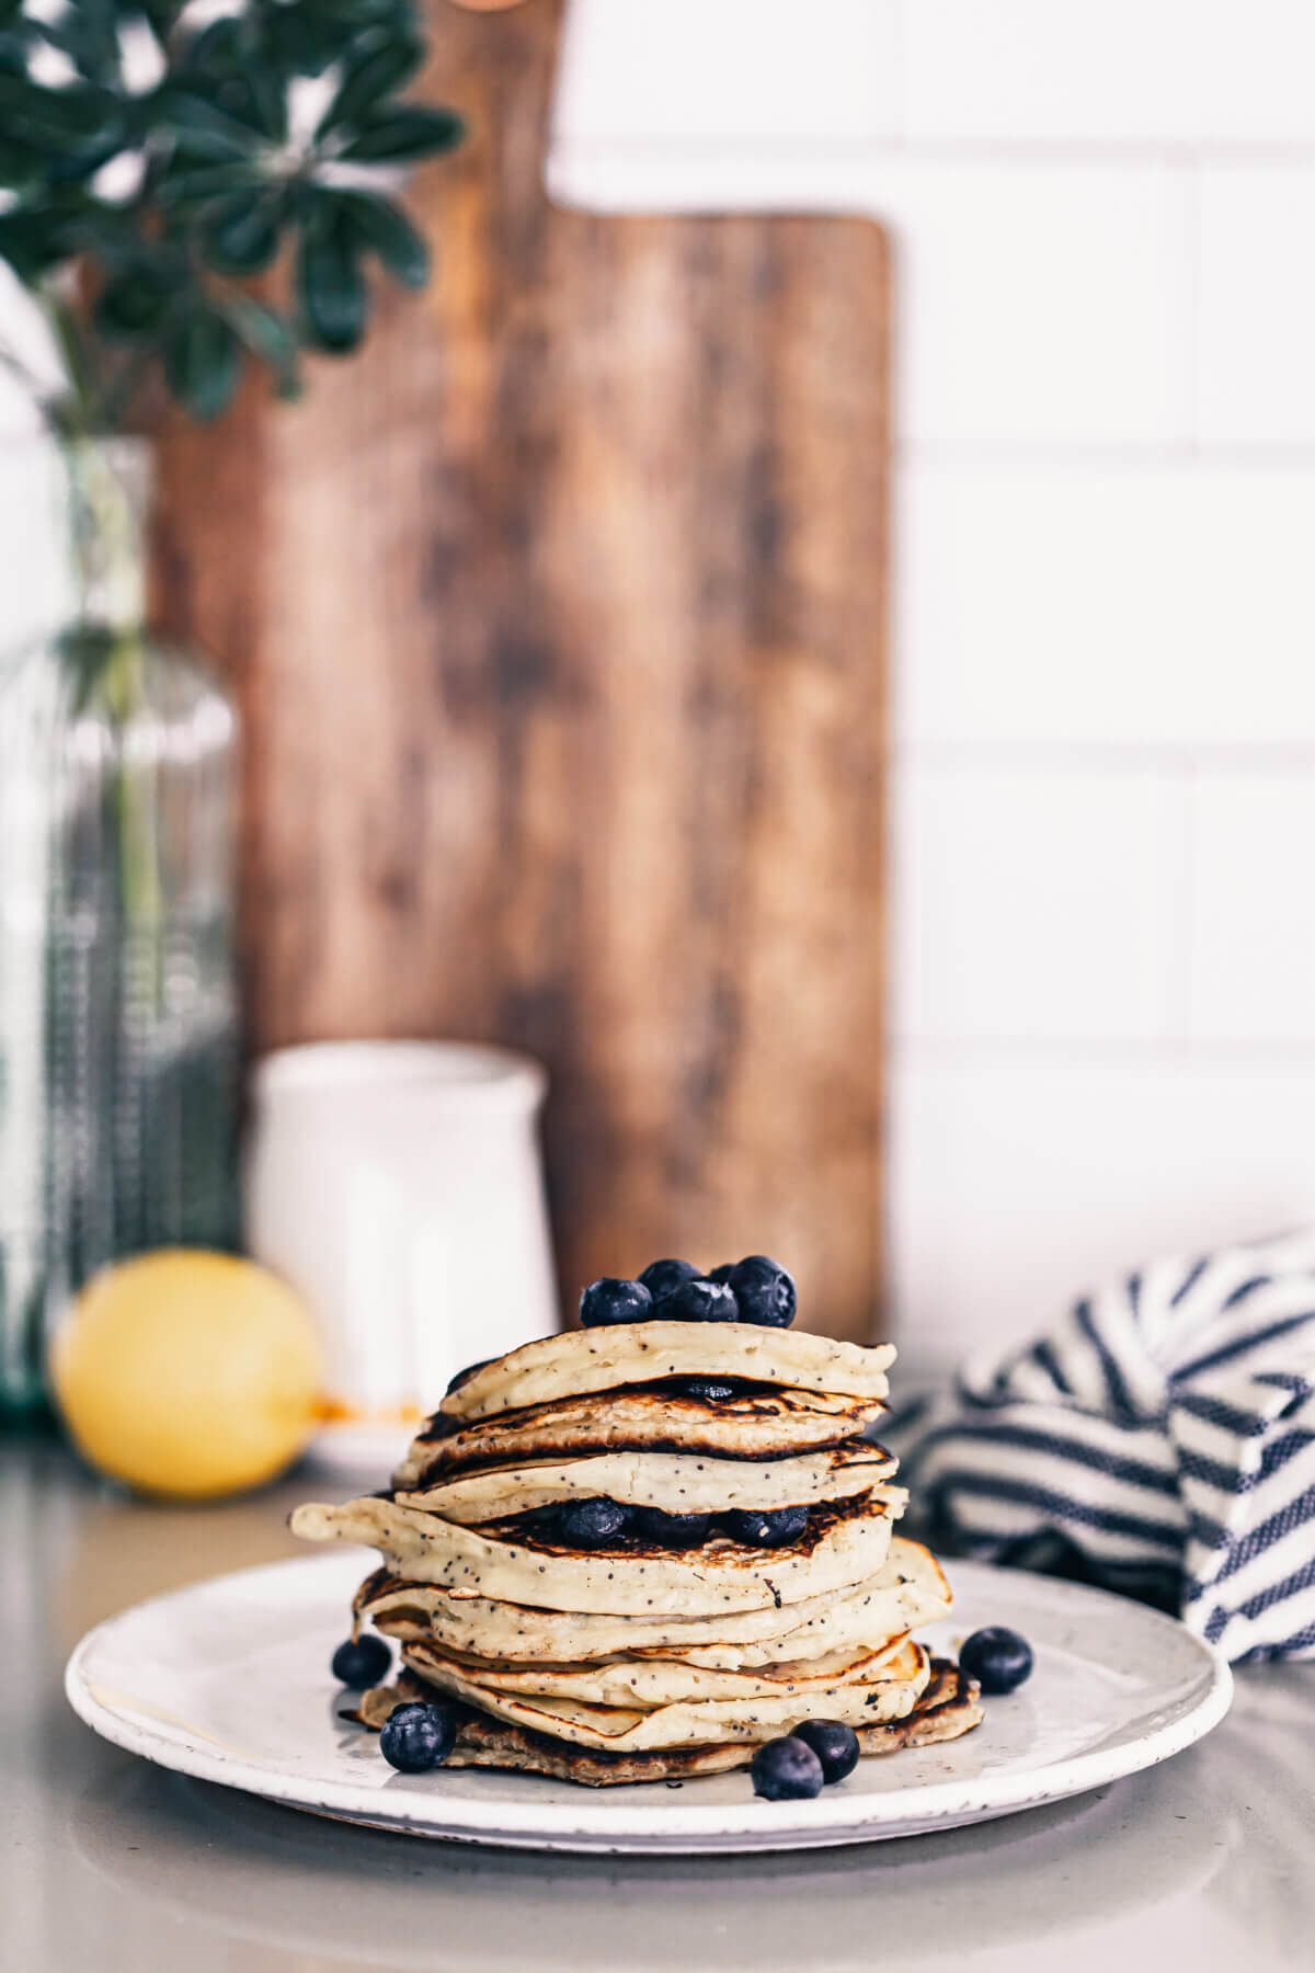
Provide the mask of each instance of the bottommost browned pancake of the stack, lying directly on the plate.
[{"label": "bottommost browned pancake of the stack, lying directly on the plate", "polygon": [[[365,1726],[377,1730],[394,1707],[426,1697],[426,1685],[404,1671],[396,1685],[382,1685],[367,1693],[357,1717]],[[858,1726],[856,1732],[864,1754],[895,1754],[905,1746],[956,1740],[980,1718],[978,1687],[958,1665],[936,1657],[931,1665],[927,1691],[905,1718]],[[706,1774],[747,1768],[751,1760],[753,1742],[745,1740],[649,1754],[599,1752],[572,1746],[554,1734],[495,1720],[477,1707],[459,1707],[457,1742],[448,1756],[448,1766],[501,1768],[515,1774],[542,1774],[554,1782],[576,1782],[584,1788],[617,1788],[629,1782],[692,1782]]]}]

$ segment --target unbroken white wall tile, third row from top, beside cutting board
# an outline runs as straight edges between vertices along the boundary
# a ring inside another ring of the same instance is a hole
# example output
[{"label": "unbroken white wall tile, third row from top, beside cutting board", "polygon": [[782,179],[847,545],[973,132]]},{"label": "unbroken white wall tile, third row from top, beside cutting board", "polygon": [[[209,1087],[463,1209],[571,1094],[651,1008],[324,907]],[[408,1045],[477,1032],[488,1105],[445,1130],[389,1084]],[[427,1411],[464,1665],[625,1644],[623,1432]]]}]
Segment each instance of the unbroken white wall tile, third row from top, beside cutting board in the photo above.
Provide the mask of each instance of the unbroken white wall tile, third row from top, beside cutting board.
[{"label": "unbroken white wall tile, third row from top, beside cutting board", "polygon": [[1315,740],[1315,452],[913,452],[895,511],[903,740]]}]

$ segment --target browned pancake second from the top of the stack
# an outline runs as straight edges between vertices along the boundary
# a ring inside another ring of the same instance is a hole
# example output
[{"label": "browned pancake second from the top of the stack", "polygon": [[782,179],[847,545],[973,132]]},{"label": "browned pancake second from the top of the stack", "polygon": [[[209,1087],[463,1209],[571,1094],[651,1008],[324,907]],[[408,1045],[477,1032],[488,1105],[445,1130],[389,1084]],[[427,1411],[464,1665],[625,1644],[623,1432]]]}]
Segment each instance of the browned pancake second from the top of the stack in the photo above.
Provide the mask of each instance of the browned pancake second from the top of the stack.
[{"label": "browned pancake second from the top of the stack", "polygon": [[881,1417],[881,1399],[824,1391],[745,1391],[690,1397],[662,1385],[530,1405],[473,1425],[434,1417],[396,1470],[396,1486],[526,1460],[593,1452],[684,1452],[724,1460],[781,1460],[842,1446]]}]

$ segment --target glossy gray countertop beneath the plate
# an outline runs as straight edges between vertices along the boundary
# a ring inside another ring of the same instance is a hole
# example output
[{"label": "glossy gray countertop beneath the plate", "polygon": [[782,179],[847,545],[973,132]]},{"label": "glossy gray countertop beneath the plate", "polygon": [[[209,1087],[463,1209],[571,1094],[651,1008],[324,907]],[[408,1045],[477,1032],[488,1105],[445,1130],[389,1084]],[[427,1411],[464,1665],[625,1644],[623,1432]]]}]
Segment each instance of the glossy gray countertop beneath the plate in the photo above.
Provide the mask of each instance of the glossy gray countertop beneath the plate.
[{"label": "glossy gray countertop beneath the plate", "polygon": [[424,1843],[189,1782],[97,1740],[61,1691],[77,1638],[142,1596],[294,1553],[284,1515],[302,1494],[142,1505],[55,1444],[0,1442],[4,1967],[1315,1965],[1315,1665],[1244,1671],[1230,1718],[1201,1746],[1053,1809],[785,1857],[576,1861]]}]

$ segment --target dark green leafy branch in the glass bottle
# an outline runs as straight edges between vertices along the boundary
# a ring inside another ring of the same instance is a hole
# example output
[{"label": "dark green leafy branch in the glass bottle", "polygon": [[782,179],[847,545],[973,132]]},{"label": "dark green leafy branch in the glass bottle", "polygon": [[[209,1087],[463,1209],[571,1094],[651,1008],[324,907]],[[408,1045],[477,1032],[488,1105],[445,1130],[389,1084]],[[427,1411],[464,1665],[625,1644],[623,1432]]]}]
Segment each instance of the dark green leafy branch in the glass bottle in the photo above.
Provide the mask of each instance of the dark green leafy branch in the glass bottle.
[{"label": "dark green leafy branch in the glass bottle", "polygon": [[414,0],[0,0],[0,260],[51,322],[61,430],[150,373],[197,418],[248,359],[294,397],[304,349],[359,345],[373,266],[424,286],[396,183],[463,128],[400,97],[422,59]]}]

